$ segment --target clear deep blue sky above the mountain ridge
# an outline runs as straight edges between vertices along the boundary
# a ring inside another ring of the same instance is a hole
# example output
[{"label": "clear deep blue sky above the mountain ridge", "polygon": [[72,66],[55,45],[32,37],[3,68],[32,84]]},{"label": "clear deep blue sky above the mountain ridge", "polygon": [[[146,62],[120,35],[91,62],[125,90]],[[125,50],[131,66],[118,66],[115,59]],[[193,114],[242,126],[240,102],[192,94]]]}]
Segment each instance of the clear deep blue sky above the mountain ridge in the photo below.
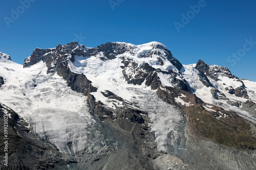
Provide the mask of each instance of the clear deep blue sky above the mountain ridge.
[{"label": "clear deep blue sky above the mountain ridge", "polygon": [[[23,1],[30,5],[0,2],[0,52],[17,63],[23,64],[36,47],[53,48],[74,40],[88,47],[115,41],[158,41],[182,64],[201,59],[227,66],[239,78],[256,81],[254,0]],[[191,12],[190,6],[196,5],[201,6],[200,11]],[[188,23],[182,22],[181,14],[188,14]],[[183,24],[179,32],[175,21]],[[245,39],[255,43],[248,44]]]}]

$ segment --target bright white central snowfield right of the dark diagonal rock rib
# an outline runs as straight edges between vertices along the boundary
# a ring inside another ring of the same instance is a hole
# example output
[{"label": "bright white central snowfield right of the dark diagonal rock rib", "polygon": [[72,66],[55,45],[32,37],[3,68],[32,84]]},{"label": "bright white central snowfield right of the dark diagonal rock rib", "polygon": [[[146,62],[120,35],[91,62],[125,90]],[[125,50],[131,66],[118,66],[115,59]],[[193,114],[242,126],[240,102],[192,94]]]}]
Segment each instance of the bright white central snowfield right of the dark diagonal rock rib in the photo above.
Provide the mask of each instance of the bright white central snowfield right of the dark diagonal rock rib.
[{"label": "bright white central snowfield right of the dark diagonal rock rib", "polygon": [[120,66],[122,63],[120,58],[105,62],[97,56],[90,58],[76,56],[75,59],[74,63],[69,62],[69,66],[73,72],[86,75],[92,81],[92,85],[98,88],[97,92],[92,93],[96,101],[100,100],[109,107],[113,107],[101,93],[101,91],[104,92],[105,90],[110,90],[125,100],[129,101],[131,99],[132,94],[125,90],[125,87],[134,87],[134,85],[129,85],[125,82],[121,72]]}]

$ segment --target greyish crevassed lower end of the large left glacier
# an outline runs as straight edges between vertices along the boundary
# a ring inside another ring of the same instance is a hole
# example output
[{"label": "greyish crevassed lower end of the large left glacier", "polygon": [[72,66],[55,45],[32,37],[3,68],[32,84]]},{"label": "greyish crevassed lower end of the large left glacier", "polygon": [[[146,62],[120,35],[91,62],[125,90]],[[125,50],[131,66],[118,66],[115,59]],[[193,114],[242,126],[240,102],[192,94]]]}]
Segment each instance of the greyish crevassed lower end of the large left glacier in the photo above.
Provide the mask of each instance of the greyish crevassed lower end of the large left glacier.
[{"label": "greyish crevassed lower end of the large left glacier", "polygon": [[30,119],[33,132],[48,139],[62,153],[75,154],[88,145],[88,133],[94,131],[94,123],[87,106],[79,112],[39,108]]}]

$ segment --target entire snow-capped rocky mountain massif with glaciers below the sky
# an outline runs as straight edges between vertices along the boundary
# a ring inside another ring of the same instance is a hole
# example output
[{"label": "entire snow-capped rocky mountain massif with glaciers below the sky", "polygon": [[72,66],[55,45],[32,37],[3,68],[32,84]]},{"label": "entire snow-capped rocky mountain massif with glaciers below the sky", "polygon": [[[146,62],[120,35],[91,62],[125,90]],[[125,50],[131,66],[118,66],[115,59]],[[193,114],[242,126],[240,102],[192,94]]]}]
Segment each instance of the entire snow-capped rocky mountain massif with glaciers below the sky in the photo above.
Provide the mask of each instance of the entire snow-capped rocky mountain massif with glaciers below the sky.
[{"label": "entire snow-capped rocky mountain massif with glaciers below the sky", "polygon": [[256,82],[226,67],[183,65],[159,42],[0,54],[11,169],[256,167]]}]

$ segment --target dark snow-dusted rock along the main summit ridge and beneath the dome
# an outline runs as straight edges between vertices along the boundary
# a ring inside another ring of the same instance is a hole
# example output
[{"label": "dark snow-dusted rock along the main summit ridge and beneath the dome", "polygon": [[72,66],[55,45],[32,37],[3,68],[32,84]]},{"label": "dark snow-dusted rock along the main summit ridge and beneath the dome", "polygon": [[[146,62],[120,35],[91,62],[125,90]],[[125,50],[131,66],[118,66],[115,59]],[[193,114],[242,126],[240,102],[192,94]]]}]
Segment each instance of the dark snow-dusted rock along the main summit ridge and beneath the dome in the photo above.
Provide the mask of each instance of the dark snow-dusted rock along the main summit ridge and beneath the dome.
[{"label": "dark snow-dusted rock along the main summit ridge and beneath the dome", "polygon": [[[64,46],[59,44],[53,49],[40,49],[36,48],[32,55],[25,59],[24,67],[29,67],[38,63],[39,61],[45,62],[47,65],[47,74],[57,71],[58,75],[62,76],[61,71],[67,71],[69,69],[68,62],[74,62],[75,56],[89,57],[98,56],[100,60],[114,60],[117,56],[126,54],[134,55],[139,58],[154,58],[157,64],[163,65],[164,62],[170,62],[174,67],[166,69],[156,69],[148,63],[138,63],[137,60],[130,58],[120,57],[123,63],[122,73],[127,83],[141,85],[142,82],[146,81],[146,85],[152,89],[157,89],[161,83],[158,73],[169,75],[169,79],[175,87],[182,90],[190,91],[186,81],[181,76],[179,70],[182,68],[182,64],[173,57],[172,53],[160,44],[150,44],[152,50],[148,53],[139,53],[137,47],[126,43],[110,43],[102,44],[95,48],[88,48],[83,45],[79,45],[77,42],[71,42]],[[143,48],[143,47],[141,47]],[[66,78],[65,78],[66,79]]]}]

